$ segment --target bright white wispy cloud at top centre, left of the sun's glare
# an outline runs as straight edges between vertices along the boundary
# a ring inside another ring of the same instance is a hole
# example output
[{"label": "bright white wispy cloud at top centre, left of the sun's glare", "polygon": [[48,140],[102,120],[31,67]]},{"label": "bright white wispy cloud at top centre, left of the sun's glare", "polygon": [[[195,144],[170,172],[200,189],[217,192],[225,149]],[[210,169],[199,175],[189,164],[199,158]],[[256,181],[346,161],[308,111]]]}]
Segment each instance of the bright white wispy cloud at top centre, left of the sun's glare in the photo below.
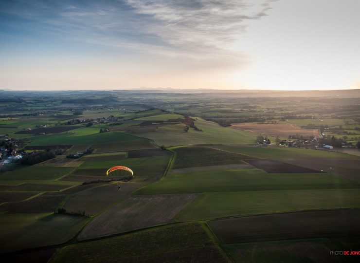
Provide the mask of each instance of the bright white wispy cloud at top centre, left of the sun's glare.
[{"label": "bright white wispy cloud at top centre, left of the sun's glare", "polygon": [[[126,0],[151,21],[146,31],[178,48],[226,49],[243,33],[249,19],[266,16],[269,6],[248,0]],[[266,1],[265,3],[269,3]]]}]

